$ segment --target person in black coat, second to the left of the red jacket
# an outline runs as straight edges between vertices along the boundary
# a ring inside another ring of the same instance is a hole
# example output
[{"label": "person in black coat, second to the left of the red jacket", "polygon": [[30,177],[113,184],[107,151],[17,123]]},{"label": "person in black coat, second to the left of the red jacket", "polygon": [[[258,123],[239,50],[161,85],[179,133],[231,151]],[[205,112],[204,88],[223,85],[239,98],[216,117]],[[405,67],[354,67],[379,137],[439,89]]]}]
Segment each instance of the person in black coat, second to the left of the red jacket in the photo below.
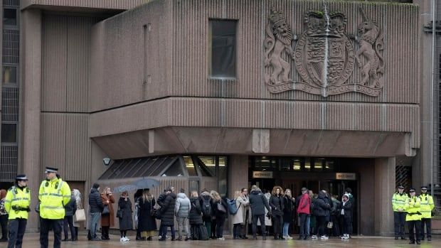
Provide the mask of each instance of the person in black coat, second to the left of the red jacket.
[{"label": "person in black coat, second to the left of the red jacket", "polygon": [[272,228],[274,230],[274,239],[285,239],[282,236],[283,229],[283,190],[280,186],[274,186],[270,197],[272,211]]}]

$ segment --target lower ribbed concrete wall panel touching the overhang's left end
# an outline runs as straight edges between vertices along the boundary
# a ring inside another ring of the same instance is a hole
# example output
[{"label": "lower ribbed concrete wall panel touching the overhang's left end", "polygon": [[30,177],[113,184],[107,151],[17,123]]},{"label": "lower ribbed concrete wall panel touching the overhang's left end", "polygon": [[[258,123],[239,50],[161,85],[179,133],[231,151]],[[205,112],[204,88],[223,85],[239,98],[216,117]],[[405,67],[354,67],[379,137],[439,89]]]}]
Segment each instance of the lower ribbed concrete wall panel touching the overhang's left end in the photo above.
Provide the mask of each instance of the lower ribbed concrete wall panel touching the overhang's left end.
[{"label": "lower ribbed concrete wall panel touching the overhang's left end", "polygon": [[63,173],[67,180],[90,177],[91,150],[87,136],[87,114],[66,114],[65,163]]}]

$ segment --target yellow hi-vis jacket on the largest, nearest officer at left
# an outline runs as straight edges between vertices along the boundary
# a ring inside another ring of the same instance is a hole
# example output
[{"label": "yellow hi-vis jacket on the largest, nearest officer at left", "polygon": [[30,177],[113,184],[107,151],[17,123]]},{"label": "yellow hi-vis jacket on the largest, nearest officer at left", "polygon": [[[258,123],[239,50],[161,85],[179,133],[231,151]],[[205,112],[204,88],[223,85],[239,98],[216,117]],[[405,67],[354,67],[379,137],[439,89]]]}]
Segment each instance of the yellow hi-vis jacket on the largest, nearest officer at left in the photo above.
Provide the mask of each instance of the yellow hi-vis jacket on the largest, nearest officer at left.
[{"label": "yellow hi-vis jacket on the largest, nearest officer at left", "polygon": [[70,188],[68,183],[58,178],[43,180],[38,190],[40,200],[40,217],[49,220],[64,218],[64,206],[70,201]]}]

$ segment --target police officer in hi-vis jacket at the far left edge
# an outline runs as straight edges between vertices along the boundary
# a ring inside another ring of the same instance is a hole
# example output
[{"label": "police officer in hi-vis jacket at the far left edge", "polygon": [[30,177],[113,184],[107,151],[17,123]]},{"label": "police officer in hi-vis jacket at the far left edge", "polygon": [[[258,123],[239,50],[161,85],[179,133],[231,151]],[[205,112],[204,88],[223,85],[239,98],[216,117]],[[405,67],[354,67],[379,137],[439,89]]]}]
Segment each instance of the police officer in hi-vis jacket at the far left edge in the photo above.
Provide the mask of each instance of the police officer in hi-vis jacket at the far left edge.
[{"label": "police officer in hi-vis jacket at the far left edge", "polygon": [[31,190],[26,188],[26,175],[17,175],[16,183],[6,193],[5,209],[9,214],[8,248],[21,247],[23,235],[28,222],[28,212],[31,211]]}]

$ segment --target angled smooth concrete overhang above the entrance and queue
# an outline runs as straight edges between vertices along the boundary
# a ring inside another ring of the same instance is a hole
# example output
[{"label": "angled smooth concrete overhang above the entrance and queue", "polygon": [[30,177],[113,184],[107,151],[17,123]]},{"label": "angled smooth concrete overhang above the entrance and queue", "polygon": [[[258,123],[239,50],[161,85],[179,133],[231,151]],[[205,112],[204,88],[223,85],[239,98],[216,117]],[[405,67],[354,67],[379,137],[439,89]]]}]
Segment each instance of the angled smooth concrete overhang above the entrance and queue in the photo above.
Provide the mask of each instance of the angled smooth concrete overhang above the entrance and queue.
[{"label": "angled smooth concrete overhang above the entrance and queue", "polygon": [[410,134],[168,126],[92,138],[112,159],[170,153],[378,158],[414,156]]}]

